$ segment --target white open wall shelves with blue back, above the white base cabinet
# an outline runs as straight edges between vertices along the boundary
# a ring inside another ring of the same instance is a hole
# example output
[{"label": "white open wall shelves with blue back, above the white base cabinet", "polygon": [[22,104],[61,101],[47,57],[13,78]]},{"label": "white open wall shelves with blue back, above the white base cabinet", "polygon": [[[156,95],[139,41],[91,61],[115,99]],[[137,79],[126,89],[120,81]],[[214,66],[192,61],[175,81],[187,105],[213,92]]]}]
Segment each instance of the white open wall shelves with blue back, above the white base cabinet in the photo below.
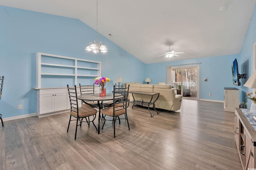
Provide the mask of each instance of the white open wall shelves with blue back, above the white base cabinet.
[{"label": "white open wall shelves with blue back, above the white base cabinet", "polygon": [[101,76],[99,61],[37,53],[36,63],[36,88],[93,84],[94,78]]}]

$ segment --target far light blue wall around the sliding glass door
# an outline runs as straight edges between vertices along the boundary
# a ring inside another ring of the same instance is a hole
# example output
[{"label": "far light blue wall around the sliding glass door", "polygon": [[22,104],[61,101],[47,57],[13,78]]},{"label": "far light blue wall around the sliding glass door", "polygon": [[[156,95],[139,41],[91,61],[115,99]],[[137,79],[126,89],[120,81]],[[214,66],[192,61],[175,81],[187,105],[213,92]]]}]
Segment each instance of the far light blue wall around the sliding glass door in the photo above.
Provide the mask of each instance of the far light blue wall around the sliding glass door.
[{"label": "far light blue wall around the sliding glass door", "polygon": [[[166,63],[146,65],[146,77],[150,77],[152,84],[166,82],[166,66],[179,64],[201,63],[200,66],[200,99],[224,100],[224,87],[235,87],[232,82],[231,63],[239,55],[226,55],[218,57],[206,57]],[[155,68],[154,70],[152,68]],[[208,78],[204,82],[204,77]],[[208,96],[211,93],[212,96]]]}]

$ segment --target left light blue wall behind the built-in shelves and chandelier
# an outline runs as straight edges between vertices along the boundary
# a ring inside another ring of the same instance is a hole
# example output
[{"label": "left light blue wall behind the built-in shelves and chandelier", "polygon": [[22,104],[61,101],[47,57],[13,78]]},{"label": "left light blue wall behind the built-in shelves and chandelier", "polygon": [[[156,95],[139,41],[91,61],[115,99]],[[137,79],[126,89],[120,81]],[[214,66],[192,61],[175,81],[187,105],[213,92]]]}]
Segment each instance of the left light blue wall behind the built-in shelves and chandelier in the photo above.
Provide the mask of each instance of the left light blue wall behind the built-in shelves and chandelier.
[{"label": "left light blue wall behind the built-in shelves and chandelier", "polygon": [[[106,86],[108,92],[118,76],[123,82],[145,79],[145,64],[100,34],[98,39],[108,53],[84,50],[96,40],[96,31],[80,20],[6,6],[0,6],[0,16],[0,76],[5,77],[0,100],[3,118],[36,113],[36,90],[32,88],[36,87],[38,52],[101,61],[102,76],[111,80]],[[18,109],[21,104],[23,109]]]}]

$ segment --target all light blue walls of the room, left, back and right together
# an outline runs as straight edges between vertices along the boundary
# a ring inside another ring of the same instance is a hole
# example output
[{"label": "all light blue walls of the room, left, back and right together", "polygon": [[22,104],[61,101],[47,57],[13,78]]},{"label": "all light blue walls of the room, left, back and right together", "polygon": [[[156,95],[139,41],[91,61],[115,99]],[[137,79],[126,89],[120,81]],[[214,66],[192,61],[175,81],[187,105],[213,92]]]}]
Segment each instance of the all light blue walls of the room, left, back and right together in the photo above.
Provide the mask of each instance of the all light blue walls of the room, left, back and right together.
[{"label": "all light blue walls of the room, left, back and right together", "polygon": [[[118,76],[123,82],[141,83],[150,77],[151,83],[156,84],[166,82],[166,66],[201,63],[200,99],[223,101],[224,87],[239,88],[240,102],[244,100],[245,93],[252,92],[252,89],[242,86],[245,80],[241,86],[232,84],[231,63],[236,58],[240,73],[244,65],[247,76],[253,72],[255,8],[240,54],[156,64],[142,63],[100,34],[98,39],[104,42],[108,53],[85,51],[88,43],[96,39],[96,31],[80,20],[6,6],[0,6],[0,16],[0,76],[5,76],[0,112],[4,118],[36,113],[36,90],[32,88],[36,87],[38,52],[101,61],[102,76],[111,80],[106,86],[108,91]],[[208,82],[203,82],[204,77]],[[208,96],[209,92],[212,96]],[[23,109],[19,110],[20,104]]]}]

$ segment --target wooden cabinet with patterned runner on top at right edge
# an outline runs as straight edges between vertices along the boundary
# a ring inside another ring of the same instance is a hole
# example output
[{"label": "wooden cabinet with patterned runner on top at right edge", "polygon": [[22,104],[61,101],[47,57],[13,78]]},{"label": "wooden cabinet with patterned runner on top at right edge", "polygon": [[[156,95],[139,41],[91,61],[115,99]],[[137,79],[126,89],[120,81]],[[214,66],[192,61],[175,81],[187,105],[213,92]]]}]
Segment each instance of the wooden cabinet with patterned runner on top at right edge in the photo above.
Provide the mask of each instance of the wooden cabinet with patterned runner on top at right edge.
[{"label": "wooden cabinet with patterned runner on top at right edge", "polygon": [[[248,109],[235,109],[235,142],[243,170],[256,168],[256,122]],[[251,124],[251,123],[253,124]]]}]

